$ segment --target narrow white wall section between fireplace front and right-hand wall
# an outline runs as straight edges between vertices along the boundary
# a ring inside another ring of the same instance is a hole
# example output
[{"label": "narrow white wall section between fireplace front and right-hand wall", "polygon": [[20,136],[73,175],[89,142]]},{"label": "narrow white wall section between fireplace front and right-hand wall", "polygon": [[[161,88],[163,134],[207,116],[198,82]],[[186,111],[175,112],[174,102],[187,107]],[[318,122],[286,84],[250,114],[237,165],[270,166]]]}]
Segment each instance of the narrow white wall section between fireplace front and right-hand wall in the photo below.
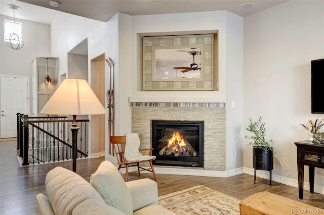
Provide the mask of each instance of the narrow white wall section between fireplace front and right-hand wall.
[{"label": "narrow white wall section between fireplace front and right-hand wall", "polygon": [[243,32],[243,18],[228,13],[225,49],[226,170],[243,167]]}]

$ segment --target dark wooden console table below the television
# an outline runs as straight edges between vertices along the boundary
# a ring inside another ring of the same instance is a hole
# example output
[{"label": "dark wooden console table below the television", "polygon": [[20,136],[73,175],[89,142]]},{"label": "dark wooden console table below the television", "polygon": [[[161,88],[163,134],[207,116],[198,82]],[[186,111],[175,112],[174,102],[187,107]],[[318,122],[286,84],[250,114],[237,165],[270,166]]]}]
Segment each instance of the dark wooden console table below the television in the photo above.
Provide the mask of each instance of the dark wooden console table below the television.
[{"label": "dark wooden console table below the television", "polygon": [[309,192],[314,193],[315,167],[324,169],[324,143],[309,140],[295,142],[297,146],[299,198],[304,196],[304,166],[309,169]]}]

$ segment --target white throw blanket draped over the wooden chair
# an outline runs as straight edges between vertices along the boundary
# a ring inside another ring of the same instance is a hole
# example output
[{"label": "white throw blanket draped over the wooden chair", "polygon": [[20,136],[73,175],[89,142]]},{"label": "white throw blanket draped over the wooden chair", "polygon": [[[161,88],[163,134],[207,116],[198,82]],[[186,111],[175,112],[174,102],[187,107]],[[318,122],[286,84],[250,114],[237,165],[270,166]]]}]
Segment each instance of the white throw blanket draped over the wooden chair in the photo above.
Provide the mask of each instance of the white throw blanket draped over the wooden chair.
[{"label": "white throw blanket draped over the wooden chair", "polygon": [[124,156],[128,162],[140,161],[140,160],[147,160],[156,158],[155,156],[150,155],[143,155],[138,150],[140,148],[141,140],[138,134],[126,134],[126,145]]}]

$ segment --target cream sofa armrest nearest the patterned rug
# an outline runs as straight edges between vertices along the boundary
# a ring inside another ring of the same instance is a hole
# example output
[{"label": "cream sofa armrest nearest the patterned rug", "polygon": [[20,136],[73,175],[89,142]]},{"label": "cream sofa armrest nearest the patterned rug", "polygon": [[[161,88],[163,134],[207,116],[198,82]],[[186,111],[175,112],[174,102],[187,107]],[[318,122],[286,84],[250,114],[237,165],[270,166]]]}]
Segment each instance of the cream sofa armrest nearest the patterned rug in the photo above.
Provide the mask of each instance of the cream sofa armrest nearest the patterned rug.
[{"label": "cream sofa armrest nearest the patterned rug", "polygon": [[157,204],[157,183],[151,179],[126,182],[133,199],[133,211],[149,204]]}]

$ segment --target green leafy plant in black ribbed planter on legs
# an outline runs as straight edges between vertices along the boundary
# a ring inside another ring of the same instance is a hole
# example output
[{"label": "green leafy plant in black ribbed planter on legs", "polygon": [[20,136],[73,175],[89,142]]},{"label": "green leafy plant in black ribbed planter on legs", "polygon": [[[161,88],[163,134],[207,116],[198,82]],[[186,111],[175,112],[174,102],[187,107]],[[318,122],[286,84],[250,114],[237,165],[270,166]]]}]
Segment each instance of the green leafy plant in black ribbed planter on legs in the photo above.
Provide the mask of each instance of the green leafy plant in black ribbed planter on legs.
[{"label": "green leafy plant in black ribbed planter on legs", "polygon": [[249,118],[249,124],[246,128],[250,132],[250,136],[245,138],[251,140],[248,145],[253,149],[253,168],[254,168],[254,183],[256,180],[256,170],[270,171],[270,186],[271,186],[271,171],[273,169],[273,140],[266,138],[266,128],[263,118],[253,121]]}]

